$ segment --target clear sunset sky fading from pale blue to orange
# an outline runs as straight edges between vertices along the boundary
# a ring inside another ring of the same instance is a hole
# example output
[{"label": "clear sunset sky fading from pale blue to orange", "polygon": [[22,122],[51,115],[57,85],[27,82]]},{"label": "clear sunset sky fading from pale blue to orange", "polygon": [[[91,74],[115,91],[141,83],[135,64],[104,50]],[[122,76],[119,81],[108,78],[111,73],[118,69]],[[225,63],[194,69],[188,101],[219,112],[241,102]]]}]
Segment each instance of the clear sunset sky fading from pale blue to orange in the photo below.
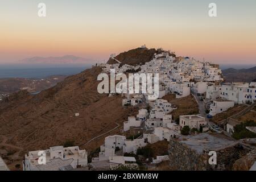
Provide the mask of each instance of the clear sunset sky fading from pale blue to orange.
[{"label": "clear sunset sky fading from pale blue to orange", "polygon": [[[46,4],[46,17],[38,4]],[[208,15],[216,3],[217,17]],[[108,60],[146,44],[219,64],[256,63],[255,0],[0,0],[0,63],[34,56]]]}]

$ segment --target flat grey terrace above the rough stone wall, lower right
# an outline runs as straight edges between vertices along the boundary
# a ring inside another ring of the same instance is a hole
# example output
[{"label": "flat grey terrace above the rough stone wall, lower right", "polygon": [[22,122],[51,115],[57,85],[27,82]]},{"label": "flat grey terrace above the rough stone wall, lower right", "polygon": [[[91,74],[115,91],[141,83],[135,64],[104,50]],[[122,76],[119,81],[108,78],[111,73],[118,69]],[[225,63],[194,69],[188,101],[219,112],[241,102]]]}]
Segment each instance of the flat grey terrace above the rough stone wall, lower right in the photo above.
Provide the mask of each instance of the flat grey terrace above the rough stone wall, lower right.
[{"label": "flat grey terrace above the rough stone wall, lower right", "polygon": [[204,150],[220,150],[237,144],[237,141],[229,138],[224,134],[198,134],[188,135],[179,138],[180,142],[187,145],[192,150],[197,151],[199,154],[203,154]]}]

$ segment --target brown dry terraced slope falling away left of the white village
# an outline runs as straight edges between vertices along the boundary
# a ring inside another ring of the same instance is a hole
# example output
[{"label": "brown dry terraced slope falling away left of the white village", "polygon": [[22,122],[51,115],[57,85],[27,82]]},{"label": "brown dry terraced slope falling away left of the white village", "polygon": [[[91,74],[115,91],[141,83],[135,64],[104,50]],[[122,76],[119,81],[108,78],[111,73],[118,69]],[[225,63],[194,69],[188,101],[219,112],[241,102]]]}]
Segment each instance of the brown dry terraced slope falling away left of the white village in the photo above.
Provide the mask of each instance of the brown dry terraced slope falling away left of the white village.
[{"label": "brown dry terraced slope falling away left of the white village", "polygon": [[[23,148],[18,160],[24,152],[60,145],[66,140],[84,144],[135,114],[131,107],[122,107],[121,96],[98,94],[100,72],[101,68],[88,69],[36,96],[20,92],[0,104],[0,135],[8,139],[6,144]],[[75,113],[80,113],[79,117]],[[104,137],[85,148],[100,146]]]}]

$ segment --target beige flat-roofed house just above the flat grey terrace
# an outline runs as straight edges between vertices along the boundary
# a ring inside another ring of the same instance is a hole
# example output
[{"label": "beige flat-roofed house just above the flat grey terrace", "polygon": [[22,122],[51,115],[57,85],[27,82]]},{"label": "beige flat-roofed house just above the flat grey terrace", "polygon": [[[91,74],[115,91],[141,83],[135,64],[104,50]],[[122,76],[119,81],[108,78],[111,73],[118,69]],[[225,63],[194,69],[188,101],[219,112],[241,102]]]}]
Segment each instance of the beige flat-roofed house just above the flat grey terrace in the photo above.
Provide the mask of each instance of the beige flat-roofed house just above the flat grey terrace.
[{"label": "beige flat-roofed house just above the flat grey terrace", "polygon": [[200,129],[200,126],[207,125],[204,117],[200,115],[180,115],[180,126],[189,126],[189,128]]}]

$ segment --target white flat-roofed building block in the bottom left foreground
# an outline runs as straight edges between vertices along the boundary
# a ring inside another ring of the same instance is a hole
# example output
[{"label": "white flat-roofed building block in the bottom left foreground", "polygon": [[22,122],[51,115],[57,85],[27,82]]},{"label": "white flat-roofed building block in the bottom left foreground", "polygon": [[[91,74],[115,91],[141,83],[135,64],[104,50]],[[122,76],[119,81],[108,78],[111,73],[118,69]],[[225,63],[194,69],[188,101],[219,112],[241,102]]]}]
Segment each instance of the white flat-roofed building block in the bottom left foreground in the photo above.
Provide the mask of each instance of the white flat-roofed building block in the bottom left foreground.
[{"label": "white flat-roofed building block in the bottom left foreground", "polygon": [[[39,157],[45,155],[46,164],[41,164]],[[23,160],[23,171],[60,171],[88,166],[87,152],[79,147],[50,147],[44,151],[31,151]]]}]

